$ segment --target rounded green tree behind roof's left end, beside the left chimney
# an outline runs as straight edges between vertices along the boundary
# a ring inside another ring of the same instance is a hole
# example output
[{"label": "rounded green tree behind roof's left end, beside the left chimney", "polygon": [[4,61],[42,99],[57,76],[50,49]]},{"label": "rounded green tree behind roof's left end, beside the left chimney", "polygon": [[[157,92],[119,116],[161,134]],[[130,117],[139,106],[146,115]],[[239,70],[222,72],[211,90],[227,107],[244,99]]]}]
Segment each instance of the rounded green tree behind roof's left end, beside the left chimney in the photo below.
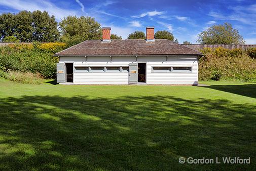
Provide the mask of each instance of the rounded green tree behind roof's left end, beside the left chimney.
[{"label": "rounded green tree behind roof's left end, beside the left chimney", "polygon": [[61,41],[68,46],[79,44],[88,39],[100,39],[102,30],[100,24],[92,17],[65,17],[59,23],[61,31]]}]

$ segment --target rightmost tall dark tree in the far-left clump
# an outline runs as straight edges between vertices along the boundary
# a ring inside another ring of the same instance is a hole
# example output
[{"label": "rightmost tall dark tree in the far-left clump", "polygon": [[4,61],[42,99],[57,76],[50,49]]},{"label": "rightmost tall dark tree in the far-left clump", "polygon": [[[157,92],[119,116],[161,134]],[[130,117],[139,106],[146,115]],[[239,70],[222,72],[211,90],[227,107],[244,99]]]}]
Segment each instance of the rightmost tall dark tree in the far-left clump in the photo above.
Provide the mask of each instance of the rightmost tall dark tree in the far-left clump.
[{"label": "rightmost tall dark tree in the far-left clump", "polygon": [[59,37],[57,22],[48,12],[39,10],[32,12],[33,37],[35,41],[55,41]]}]

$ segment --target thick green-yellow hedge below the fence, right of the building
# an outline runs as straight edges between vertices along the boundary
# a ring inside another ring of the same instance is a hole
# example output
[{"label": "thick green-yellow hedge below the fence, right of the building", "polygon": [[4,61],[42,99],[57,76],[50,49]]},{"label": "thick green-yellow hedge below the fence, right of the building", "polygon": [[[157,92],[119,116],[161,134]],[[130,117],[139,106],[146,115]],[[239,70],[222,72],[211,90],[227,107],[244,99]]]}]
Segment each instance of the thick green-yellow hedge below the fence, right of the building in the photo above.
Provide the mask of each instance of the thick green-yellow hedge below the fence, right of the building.
[{"label": "thick green-yellow hedge below the fence, right of the building", "polygon": [[228,50],[222,47],[201,50],[200,80],[256,81],[256,48]]}]

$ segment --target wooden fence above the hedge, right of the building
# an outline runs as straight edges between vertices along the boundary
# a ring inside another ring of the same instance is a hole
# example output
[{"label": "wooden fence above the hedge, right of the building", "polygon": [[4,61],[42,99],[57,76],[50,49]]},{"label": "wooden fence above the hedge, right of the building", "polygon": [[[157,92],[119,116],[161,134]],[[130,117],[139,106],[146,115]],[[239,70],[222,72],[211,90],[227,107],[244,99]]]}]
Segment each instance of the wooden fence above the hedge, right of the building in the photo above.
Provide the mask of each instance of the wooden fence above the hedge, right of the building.
[{"label": "wooden fence above the hedge, right of the building", "polygon": [[225,49],[249,49],[249,48],[256,48],[256,45],[233,45],[233,44],[180,44],[186,46],[191,49],[200,50],[203,48],[218,48],[223,47]]}]

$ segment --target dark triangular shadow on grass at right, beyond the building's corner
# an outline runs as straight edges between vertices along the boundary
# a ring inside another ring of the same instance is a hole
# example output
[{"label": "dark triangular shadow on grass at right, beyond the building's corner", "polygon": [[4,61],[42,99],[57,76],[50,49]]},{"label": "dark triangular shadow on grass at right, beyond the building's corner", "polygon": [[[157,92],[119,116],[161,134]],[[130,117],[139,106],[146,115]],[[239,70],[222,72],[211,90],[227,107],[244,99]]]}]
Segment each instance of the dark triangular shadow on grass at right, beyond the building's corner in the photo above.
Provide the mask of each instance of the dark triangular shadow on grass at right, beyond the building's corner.
[{"label": "dark triangular shadow on grass at right, beyond the building's corner", "polygon": [[256,84],[212,85],[212,86],[206,86],[205,88],[210,88],[214,90],[220,90],[220,91],[229,92],[237,95],[256,98]]}]

